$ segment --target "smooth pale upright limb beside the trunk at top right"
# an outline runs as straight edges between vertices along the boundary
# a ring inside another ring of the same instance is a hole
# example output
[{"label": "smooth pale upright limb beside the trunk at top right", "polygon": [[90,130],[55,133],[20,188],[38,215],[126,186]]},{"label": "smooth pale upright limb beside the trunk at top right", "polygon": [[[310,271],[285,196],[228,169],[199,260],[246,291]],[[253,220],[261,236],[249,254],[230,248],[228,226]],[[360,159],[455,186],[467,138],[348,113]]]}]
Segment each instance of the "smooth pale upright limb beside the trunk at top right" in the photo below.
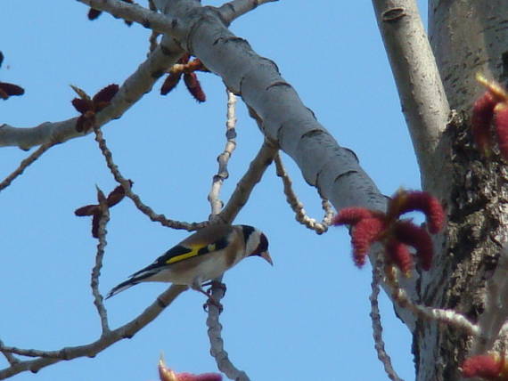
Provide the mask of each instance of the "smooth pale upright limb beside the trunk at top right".
[{"label": "smooth pale upright limb beside the trunk at top right", "polygon": [[429,40],[414,0],[373,0],[424,189],[435,190],[447,166],[436,153],[450,113]]}]

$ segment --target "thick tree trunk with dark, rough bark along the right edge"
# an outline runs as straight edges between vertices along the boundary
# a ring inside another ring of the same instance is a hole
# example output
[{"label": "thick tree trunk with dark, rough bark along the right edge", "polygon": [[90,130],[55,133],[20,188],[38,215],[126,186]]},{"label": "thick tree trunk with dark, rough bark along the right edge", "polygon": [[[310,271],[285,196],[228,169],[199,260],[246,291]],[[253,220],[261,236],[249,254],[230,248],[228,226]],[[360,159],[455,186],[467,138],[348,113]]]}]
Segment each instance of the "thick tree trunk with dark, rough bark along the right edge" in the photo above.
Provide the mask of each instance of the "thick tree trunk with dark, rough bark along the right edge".
[{"label": "thick tree trunk with dark, rough bark along the right edge", "polygon": [[[476,322],[484,311],[486,280],[507,239],[508,170],[497,154],[479,156],[469,115],[484,91],[475,74],[500,81],[507,77],[508,3],[432,0],[429,12],[431,45],[457,113],[441,144],[452,166],[441,187],[449,190],[446,243],[436,267],[422,277],[422,303],[454,309]],[[471,338],[456,329],[421,322],[414,331],[417,379],[462,379],[458,367],[470,349]]]}]

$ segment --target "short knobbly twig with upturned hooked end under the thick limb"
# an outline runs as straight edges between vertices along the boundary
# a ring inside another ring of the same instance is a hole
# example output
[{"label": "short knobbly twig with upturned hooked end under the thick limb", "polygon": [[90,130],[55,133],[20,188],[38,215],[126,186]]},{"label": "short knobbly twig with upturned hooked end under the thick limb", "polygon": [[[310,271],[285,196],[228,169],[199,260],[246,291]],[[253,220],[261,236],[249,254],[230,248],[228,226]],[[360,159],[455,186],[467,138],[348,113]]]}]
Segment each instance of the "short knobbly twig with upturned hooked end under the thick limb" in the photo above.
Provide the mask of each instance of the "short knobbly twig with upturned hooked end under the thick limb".
[{"label": "short knobbly twig with upturned hooked end under the thick limb", "polygon": [[308,229],[315,231],[317,234],[323,234],[328,231],[328,225],[331,223],[333,217],[333,210],[330,202],[323,199],[322,206],[324,208],[325,215],[321,223],[318,223],[314,218],[310,218],[292,188],[291,177],[284,168],[280,153],[275,155],[274,162],[277,176],[283,180],[286,200],[288,201],[288,204],[290,204],[293,212],[295,212],[296,220],[302,225],[307,226]]}]

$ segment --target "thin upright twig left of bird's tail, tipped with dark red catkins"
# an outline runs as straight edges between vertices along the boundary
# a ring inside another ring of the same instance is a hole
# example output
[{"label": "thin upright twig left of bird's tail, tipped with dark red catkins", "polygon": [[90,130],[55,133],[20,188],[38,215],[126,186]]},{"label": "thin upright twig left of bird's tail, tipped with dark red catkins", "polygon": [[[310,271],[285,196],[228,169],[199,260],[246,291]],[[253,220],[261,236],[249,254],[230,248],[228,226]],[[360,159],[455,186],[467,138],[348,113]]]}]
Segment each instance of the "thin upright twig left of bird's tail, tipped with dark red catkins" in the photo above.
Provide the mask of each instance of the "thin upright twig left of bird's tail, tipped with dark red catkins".
[{"label": "thin upright twig left of bird's tail, tipped with dark red catkins", "polygon": [[110,332],[110,326],[108,324],[108,312],[106,311],[106,307],[102,303],[102,295],[99,291],[99,277],[101,275],[102,269],[102,258],[104,257],[104,247],[108,244],[106,241],[106,225],[110,221],[110,209],[108,208],[108,204],[106,202],[106,198],[104,197],[101,190],[97,188],[97,191],[100,192],[99,197],[99,206],[101,207],[101,217],[99,219],[99,229],[98,229],[98,238],[99,243],[97,244],[97,254],[95,255],[95,265],[92,269],[92,276],[90,281],[90,286],[92,287],[92,295],[94,296],[94,304],[97,308],[97,312],[99,313],[99,318],[101,319],[101,327],[102,327],[102,335]]}]

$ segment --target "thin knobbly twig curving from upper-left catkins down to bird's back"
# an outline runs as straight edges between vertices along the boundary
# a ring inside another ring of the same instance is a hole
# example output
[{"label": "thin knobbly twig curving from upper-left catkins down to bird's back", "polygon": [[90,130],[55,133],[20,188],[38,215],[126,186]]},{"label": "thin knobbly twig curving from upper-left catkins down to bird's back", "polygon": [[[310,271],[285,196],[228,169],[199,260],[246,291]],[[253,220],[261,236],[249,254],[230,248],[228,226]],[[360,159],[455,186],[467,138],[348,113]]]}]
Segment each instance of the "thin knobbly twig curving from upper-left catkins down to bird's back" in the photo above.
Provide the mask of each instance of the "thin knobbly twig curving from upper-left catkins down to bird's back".
[{"label": "thin knobbly twig curving from upper-left catkins down to bird's back", "polygon": [[169,220],[168,218],[166,218],[165,215],[156,214],[151,207],[145,205],[143,201],[139,198],[139,196],[132,191],[130,182],[124,176],[122,176],[122,174],[120,174],[119,167],[113,161],[111,150],[106,145],[106,141],[104,140],[101,129],[95,127],[94,133],[95,133],[95,142],[99,143],[99,148],[101,149],[102,156],[105,158],[106,164],[108,168],[110,168],[111,174],[113,174],[115,180],[124,187],[124,190],[126,191],[126,196],[129,199],[133,200],[135,207],[137,207],[141,212],[143,212],[144,215],[147,215],[152,221],[158,222],[161,225],[166,226],[168,228],[183,229],[186,231],[195,231],[208,224],[207,222],[185,223],[182,221]]}]

